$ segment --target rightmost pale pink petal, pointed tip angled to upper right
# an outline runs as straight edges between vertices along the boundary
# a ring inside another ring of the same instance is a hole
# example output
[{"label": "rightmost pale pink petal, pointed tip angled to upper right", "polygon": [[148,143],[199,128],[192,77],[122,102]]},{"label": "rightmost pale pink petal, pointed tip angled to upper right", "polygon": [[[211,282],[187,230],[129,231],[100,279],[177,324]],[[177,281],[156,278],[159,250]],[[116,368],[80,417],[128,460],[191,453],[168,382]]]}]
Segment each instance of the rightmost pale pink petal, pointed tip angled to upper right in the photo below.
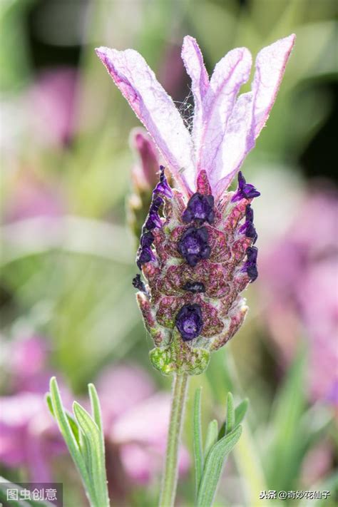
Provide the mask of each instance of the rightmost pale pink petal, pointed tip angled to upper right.
[{"label": "rightmost pale pink petal, pointed tip angled to upper right", "polygon": [[254,121],[256,138],[265,126],[265,122],[275,102],[295,39],[295,34],[292,34],[263,48],[257,54],[255,77],[252,82],[252,92],[255,96]]}]

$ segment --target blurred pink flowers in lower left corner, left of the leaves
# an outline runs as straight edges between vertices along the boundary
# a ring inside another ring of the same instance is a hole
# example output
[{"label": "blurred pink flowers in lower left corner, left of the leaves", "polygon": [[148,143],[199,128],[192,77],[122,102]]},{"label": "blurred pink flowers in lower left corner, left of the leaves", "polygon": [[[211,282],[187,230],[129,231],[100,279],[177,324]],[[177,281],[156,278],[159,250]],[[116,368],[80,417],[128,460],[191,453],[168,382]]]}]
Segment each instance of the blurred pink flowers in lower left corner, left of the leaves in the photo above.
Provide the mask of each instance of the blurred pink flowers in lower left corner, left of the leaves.
[{"label": "blurred pink flowers in lower left corner, left of the leaves", "polygon": [[[53,374],[47,352],[41,337],[11,342],[4,365],[11,395],[0,397],[0,462],[26,466],[29,479],[36,482],[51,481],[51,459],[66,451],[44,399]],[[61,391],[70,406],[71,396],[62,382]]]}]

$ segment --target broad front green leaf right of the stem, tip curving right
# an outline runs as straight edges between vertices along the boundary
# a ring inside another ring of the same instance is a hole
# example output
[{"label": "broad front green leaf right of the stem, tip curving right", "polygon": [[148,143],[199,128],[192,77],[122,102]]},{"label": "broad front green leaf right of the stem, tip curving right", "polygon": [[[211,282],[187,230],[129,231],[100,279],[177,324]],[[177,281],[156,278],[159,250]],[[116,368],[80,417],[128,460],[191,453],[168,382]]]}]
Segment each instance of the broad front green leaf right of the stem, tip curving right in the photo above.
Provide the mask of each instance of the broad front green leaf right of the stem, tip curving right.
[{"label": "broad front green leaf right of the stem, tip curving right", "polygon": [[242,426],[238,426],[234,431],[217,441],[210,450],[208,459],[205,461],[203,477],[200,482],[197,507],[212,506],[225,458],[232,451],[235,444],[237,444],[241,433]]}]

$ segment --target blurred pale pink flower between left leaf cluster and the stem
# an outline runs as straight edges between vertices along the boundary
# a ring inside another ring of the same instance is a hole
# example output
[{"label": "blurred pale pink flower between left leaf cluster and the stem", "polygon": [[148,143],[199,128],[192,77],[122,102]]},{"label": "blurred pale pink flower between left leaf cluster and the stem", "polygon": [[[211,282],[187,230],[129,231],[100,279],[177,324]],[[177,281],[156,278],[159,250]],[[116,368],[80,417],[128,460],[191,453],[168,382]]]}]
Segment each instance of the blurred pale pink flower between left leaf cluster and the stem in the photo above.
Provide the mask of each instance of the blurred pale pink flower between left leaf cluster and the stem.
[{"label": "blurred pale pink flower between left leaf cluster and the stem", "polygon": [[[96,386],[103,412],[108,464],[113,450],[133,483],[150,482],[163,464],[170,395],[155,393],[148,374],[135,366],[106,369]],[[182,447],[180,472],[187,471],[189,464],[188,451]],[[114,480],[109,467],[108,480]]]}]

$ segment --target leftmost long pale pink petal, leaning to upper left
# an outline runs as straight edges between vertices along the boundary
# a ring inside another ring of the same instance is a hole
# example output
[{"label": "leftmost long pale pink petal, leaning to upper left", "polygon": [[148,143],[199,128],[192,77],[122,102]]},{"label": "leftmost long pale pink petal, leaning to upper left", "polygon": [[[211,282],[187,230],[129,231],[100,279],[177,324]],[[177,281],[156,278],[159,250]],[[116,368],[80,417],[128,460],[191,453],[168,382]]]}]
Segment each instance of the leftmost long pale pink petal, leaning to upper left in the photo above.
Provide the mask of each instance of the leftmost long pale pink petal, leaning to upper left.
[{"label": "leftmost long pale pink petal, leaning to upper left", "polygon": [[[185,193],[194,190],[193,142],[172,98],[137,51],[96,49],[116,86],[153,137],[168,168]],[[184,170],[183,170],[184,169]]]}]

